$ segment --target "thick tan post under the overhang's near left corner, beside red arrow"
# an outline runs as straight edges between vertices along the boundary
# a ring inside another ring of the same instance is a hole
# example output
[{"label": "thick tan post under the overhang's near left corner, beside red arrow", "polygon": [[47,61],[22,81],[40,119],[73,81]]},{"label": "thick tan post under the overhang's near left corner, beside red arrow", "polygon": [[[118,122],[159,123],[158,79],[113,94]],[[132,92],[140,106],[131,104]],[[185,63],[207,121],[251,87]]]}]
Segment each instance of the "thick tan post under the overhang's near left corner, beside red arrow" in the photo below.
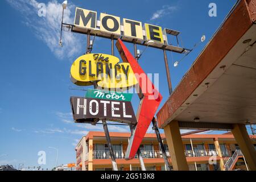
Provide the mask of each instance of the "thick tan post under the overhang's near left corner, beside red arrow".
[{"label": "thick tan post under the overhang's near left corner, beside red arrow", "polygon": [[174,170],[188,171],[188,164],[180,135],[179,123],[177,121],[171,121],[166,127],[164,127],[164,133],[166,134],[166,141]]}]

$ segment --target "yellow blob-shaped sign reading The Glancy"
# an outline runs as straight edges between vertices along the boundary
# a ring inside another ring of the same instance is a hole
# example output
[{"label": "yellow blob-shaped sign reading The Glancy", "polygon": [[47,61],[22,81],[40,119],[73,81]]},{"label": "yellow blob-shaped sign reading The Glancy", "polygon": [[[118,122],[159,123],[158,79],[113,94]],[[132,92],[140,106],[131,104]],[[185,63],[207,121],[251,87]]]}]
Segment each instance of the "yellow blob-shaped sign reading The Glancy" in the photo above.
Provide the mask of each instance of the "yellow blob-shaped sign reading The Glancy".
[{"label": "yellow blob-shaped sign reading The Glancy", "polygon": [[128,89],[138,83],[129,63],[102,53],[82,55],[71,66],[71,80],[80,86],[97,85],[108,89]]}]

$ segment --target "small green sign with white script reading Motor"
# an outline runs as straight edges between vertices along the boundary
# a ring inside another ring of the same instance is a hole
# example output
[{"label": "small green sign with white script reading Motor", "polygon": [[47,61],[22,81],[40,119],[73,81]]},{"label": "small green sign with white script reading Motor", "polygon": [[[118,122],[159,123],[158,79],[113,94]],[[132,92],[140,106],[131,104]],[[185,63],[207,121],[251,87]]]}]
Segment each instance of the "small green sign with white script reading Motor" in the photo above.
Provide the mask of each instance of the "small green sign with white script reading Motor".
[{"label": "small green sign with white script reading Motor", "polygon": [[131,98],[133,97],[133,94],[89,89],[86,92],[85,97],[112,100],[112,101],[128,101],[128,102],[130,102]]}]

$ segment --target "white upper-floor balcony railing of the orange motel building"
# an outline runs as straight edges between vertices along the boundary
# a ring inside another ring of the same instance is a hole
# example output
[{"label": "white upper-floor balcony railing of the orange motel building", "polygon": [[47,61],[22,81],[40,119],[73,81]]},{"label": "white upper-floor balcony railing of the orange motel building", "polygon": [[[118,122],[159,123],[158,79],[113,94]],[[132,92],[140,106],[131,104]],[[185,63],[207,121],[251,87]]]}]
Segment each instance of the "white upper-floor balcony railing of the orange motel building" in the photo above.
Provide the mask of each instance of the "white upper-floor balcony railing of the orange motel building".
[{"label": "white upper-floor balcony railing of the orange motel building", "polygon": [[[125,159],[125,151],[114,151],[115,159]],[[143,159],[163,158],[162,151],[141,151]],[[169,151],[166,151],[170,157]],[[217,156],[216,150],[185,150],[186,157]],[[135,158],[138,158],[136,155]],[[109,151],[93,151],[93,159],[110,159]]]}]

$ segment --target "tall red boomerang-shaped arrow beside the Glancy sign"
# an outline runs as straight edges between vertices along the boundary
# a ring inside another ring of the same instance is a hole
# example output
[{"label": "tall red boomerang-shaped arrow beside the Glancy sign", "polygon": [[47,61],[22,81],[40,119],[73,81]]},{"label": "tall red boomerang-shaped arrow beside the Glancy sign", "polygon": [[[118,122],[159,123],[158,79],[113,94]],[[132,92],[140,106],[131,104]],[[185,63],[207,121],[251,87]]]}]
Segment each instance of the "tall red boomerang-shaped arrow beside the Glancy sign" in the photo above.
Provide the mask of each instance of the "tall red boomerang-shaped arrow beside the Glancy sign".
[{"label": "tall red boomerang-shaped arrow beside the Glancy sign", "polygon": [[[138,123],[134,134],[131,136],[125,155],[125,159],[130,160],[134,158],[136,152],[138,151],[142,139],[144,138],[144,135],[146,134],[163,97],[158,90],[155,89],[154,84],[152,84],[151,80],[147,77],[146,73],[134,59],[133,55],[126,48],[121,39],[118,39],[116,46],[123,62],[130,63],[131,69],[133,69],[133,72],[139,82],[139,87],[144,92],[141,100],[141,106],[138,111]],[[146,77],[146,79],[139,79],[139,76],[144,78]]]}]

